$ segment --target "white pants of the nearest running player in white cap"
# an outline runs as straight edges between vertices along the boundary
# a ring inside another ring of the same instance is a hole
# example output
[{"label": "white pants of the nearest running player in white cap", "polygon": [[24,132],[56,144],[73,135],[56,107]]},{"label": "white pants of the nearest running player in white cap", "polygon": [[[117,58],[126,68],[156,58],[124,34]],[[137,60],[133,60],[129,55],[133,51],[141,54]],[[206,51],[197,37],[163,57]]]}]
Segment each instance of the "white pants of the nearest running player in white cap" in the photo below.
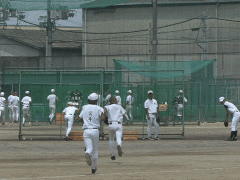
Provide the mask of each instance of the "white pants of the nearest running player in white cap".
[{"label": "white pants of the nearest running player in white cap", "polygon": [[92,155],[92,158],[98,158],[99,130],[85,129],[83,133],[86,152]]}]

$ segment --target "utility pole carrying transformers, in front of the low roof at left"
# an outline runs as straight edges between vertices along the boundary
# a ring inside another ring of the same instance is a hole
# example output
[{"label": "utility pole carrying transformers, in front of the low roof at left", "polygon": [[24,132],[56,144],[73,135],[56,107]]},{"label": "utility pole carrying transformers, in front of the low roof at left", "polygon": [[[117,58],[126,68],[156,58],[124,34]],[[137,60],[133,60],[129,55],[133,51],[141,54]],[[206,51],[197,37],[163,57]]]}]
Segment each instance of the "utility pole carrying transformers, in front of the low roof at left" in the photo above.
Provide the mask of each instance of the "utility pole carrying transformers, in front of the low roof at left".
[{"label": "utility pole carrying transformers, in front of the low roof at left", "polygon": [[46,36],[46,67],[52,67],[52,22],[50,18],[51,0],[47,0],[47,36]]}]

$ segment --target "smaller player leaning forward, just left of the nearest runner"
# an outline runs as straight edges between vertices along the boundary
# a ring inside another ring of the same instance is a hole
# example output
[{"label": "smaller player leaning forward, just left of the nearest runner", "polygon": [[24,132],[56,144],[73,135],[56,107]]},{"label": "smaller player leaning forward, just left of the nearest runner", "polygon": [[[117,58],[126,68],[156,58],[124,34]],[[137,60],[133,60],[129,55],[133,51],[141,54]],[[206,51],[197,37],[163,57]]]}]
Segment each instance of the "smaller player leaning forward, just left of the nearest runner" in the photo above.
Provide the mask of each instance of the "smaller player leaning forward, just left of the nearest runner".
[{"label": "smaller player leaning forward, just left of the nearest runner", "polygon": [[69,134],[72,130],[74,114],[75,114],[75,111],[79,113],[79,109],[72,105],[73,105],[72,102],[68,102],[68,107],[66,107],[62,112],[64,115],[65,123],[66,123],[66,137],[65,137],[66,141],[72,140],[69,138]]}]

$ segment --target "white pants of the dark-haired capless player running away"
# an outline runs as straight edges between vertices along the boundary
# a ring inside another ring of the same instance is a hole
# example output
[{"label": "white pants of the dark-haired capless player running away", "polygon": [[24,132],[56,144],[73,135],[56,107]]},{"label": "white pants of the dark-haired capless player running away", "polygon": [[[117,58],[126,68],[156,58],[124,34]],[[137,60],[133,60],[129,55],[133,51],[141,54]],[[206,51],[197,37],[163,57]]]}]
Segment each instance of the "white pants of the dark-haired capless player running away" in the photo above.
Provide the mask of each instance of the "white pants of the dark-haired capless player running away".
[{"label": "white pants of the dark-haired capless player running away", "polygon": [[115,148],[114,148],[114,135],[116,133],[116,141],[117,145],[122,146],[122,124],[118,124],[118,122],[112,122],[109,124],[109,145],[112,156],[115,156]]}]

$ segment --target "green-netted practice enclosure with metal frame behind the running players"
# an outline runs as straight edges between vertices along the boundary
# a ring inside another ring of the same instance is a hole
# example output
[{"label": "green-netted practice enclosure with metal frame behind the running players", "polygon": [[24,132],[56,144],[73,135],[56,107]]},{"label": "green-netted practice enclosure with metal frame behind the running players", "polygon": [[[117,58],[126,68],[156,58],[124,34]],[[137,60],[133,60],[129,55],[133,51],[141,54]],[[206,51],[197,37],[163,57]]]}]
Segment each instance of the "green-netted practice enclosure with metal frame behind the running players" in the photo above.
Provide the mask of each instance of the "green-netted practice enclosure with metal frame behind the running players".
[{"label": "green-netted practice enclosure with metal frame behind the running players", "polygon": [[[147,138],[144,102],[148,98],[147,92],[153,90],[154,98],[158,101],[158,104],[167,104],[167,108],[162,108],[160,111],[159,137],[183,138],[185,124],[199,125],[201,118],[204,118],[210,111],[206,111],[206,103],[204,106],[202,104],[201,82],[192,81],[191,75],[211,63],[213,63],[213,60],[201,62],[180,61],[178,63],[115,60],[115,70],[104,70],[103,68],[6,68],[4,70],[4,91],[18,91],[20,99],[22,99],[26,90],[31,93],[30,96],[33,102],[31,114],[26,120],[25,127],[19,124],[19,140],[22,138],[39,140],[63,139],[66,125],[59,117],[59,113],[63,111],[68,101],[73,100],[75,91],[79,93],[80,98],[77,106],[81,108],[87,104],[87,97],[90,93],[97,92],[101,97],[105,98],[108,91],[111,91],[111,95],[114,96],[115,90],[119,90],[123,105],[126,104],[128,90],[132,90],[134,98],[133,119],[130,122],[126,120],[123,122],[125,134],[131,135],[131,133],[134,133],[135,135],[137,132],[138,139]],[[191,71],[189,71],[189,68]],[[58,114],[54,117],[53,124],[50,124],[48,120],[50,111],[47,96],[50,94],[51,89],[55,89],[55,94],[60,100],[56,105],[56,113]],[[176,117],[173,101],[180,89],[184,90],[188,105],[184,107],[183,116]],[[8,95],[8,93],[6,94]],[[103,98],[100,98],[102,107],[104,103]],[[211,106],[214,107],[214,104]],[[20,115],[20,122],[22,122],[21,106]],[[8,115],[6,115],[6,118],[8,118]],[[81,128],[82,123],[75,120],[72,132],[81,132],[83,131]],[[152,128],[152,134],[154,134],[154,127]],[[101,136],[108,139],[108,127],[103,123],[101,125]]]}]

